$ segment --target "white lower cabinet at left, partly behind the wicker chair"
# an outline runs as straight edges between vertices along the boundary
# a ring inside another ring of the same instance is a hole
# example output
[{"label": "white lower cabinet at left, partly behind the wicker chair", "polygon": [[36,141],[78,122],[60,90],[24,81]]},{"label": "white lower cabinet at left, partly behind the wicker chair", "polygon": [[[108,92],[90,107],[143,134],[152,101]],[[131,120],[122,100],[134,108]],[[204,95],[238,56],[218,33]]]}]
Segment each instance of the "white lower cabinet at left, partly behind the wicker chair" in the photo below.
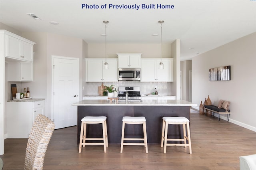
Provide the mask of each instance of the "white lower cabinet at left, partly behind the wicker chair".
[{"label": "white lower cabinet at left, partly behind the wicker chair", "polygon": [[28,138],[36,116],[44,115],[44,100],[7,102],[8,138]]}]

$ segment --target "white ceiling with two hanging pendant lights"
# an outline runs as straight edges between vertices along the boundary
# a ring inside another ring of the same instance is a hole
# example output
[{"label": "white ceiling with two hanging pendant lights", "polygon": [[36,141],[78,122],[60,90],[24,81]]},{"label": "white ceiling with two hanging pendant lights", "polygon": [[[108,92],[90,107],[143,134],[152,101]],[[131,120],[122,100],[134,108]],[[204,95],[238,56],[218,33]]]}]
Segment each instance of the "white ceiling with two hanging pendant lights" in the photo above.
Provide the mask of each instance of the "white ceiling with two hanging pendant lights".
[{"label": "white ceiling with two hanging pendant lights", "polygon": [[[82,9],[82,4],[99,9]],[[100,9],[107,4],[106,9]],[[109,5],[140,5],[112,9]],[[142,4],[174,5],[174,9],[142,9]],[[41,20],[34,20],[34,13]],[[104,43],[181,42],[181,59],[190,59],[256,32],[256,0],[0,0],[0,22],[21,32],[52,32]],[[58,22],[58,25],[50,24]],[[194,49],[190,49],[194,48]]]}]

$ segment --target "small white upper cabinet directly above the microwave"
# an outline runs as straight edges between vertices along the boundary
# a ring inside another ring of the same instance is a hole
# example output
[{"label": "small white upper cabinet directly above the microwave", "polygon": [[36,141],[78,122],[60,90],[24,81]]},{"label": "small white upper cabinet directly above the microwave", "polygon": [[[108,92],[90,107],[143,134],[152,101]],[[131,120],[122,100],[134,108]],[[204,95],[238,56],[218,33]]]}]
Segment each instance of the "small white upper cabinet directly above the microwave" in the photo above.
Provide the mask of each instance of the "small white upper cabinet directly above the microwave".
[{"label": "small white upper cabinet directly above the microwave", "polygon": [[118,53],[118,68],[140,68],[141,53]]}]

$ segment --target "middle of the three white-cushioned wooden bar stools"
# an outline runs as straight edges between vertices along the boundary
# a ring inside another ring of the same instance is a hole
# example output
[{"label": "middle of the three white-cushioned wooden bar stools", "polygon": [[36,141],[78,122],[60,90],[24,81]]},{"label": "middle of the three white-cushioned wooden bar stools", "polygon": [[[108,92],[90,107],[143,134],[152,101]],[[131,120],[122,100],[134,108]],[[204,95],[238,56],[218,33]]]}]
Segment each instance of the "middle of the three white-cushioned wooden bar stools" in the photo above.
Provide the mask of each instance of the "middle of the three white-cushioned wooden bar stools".
[{"label": "middle of the three white-cushioned wooden bar stools", "polygon": [[[146,148],[146,153],[148,153],[148,140],[147,140],[147,130],[146,130],[146,119],[145,117],[123,117],[123,126],[122,126],[122,139],[121,139],[121,152],[123,152],[124,145],[143,145]],[[125,124],[142,124],[143,125],[143,136],[144,138],[124,138],[124,127]],[[144,143],[124,143],[124,140],[143,140]]]}]

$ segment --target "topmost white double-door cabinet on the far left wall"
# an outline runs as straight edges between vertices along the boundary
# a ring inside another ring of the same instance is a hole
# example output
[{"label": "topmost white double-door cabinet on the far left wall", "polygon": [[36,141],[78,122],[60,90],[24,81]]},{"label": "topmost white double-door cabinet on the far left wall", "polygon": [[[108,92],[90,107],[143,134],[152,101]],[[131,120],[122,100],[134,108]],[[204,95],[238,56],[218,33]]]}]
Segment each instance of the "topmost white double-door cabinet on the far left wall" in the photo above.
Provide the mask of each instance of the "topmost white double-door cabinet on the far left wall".
[{"label": "topmost white double-door cabinet on the far left wall", "polygon": [[33,61],[33,43],[6,35],[6,57],[21,61]]}]

